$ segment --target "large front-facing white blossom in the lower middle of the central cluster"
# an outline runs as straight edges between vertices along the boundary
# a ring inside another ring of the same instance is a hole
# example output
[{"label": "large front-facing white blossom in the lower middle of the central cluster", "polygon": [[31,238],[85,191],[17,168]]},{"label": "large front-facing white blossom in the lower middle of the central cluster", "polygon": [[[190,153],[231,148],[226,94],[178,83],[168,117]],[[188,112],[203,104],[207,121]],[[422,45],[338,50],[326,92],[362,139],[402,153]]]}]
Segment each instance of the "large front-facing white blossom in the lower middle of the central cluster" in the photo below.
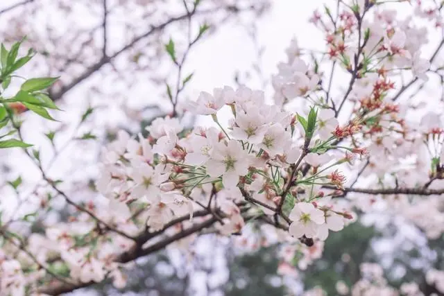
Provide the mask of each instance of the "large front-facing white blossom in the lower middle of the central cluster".
[{"label": "large front-facing white blossom in the lower middle of the central cluster", "polygon": [[239,182],[239,176],[248,173],[249,159],[239,141],[230,140],[226,146],[224,143],[217,143],[207,161],[207,173],[211,177],[222,175],[223,186],[226,189],[234,188]]}]

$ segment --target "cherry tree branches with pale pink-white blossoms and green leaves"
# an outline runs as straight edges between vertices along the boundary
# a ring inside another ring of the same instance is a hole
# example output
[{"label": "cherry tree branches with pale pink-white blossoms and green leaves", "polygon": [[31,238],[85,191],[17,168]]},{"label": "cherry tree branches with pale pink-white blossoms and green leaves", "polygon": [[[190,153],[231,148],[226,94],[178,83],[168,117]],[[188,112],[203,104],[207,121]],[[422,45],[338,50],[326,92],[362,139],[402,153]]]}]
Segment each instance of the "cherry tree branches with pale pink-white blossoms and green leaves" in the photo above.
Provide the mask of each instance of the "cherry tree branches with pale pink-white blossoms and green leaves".
[{"label": "cherry tree branches with pale pink-white blossoms and green leaves", "polygon": [[[189,22],[200,2],[184,1]],[[278,271],[294,277],[322,256],[330,232],[381,207],[428,238],[441,238],[443,100],[436,94],[424,98],[422,90],[443,81],[444,39],[432,37],[442,30],[443,3],[332,2],[310,19],[325,35],[325,48],[306,51],[293,40],[272,78],[273,98],[225,86],[180,102],[192,78],[181,75],[182,64],[208,28],[190,29],[182,52],[169,40],[164,51],[179,72],[176,85],[166,87],[171,114],[153,120],[148,137],[119,131],[101,151],[99,177],[80,189],[47,173],[44,151],[26,148],[22,115],[13,112],[26,107],[52,119],[46,109],[57,106],[49,98],[56,100],[71,84],[50,89],[48,96],[42,90],[55,79],[31,79],[14,96],[2,97],[0,115],[8,124],[2,128],[16,138],[0,144],[23,147],[43,185],[1,216],[1,295],[59,295],[105,279],[123,287],[133,261],[169,245],[186,252],[207,234],[249,233],[255,242],[279,243]],[[398,16],[397,8],[409,16]],[[18,46],[1,49],[3,88],[17,64],[31,59],[32,53],[16,60]],[[422,54],[431,46],[437,47],[429,56]],[[108,63],[114,55],[103,50],[99,63]],[[189,126],[189,113],[214,124]],[[54,134],[46,137],[53,143]],[[18,191],[21,182],[10,186]],[[32,198],[38,204],[30,211],[26,202]],[[69,218],[51,222],[46,216],[60,200],[69,206]],[[40,229],[32,227],[37,220]],[[260,231],[252,232],[253,226]],[[399,290],[388,286],[378,265],[363,264],[361,272],[363,279],[352,287],[339,282],[338,293],[429,293],[414,282]],[[434,293],[444,293],[444,270],[430,269],[425,278]]]}]

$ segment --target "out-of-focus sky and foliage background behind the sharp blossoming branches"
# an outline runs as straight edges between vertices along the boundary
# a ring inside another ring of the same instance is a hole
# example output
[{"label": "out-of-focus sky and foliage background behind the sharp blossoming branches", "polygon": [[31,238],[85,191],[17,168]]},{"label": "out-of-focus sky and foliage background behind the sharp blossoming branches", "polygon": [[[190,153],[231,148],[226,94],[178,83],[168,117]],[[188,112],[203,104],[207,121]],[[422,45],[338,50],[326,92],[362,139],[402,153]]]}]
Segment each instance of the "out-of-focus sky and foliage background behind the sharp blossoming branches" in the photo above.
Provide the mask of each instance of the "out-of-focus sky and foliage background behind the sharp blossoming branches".
[{"label": "out-of-focus sky and foliage background behind the sharp blossoming branches", "polygon": [[[63,110],[53,114],[60,122],[26,114],[25,124],[31,128],[24,128],[25,139],[45,151],[42,162],[53,180],[74,184],[71,191],[78,200],[89,197],[83,184],[91,185],[101,148],[117,130],[144,132],[157,116],[182,112],[188,99],[214,87],[246,84],[264,89],[271,98],[271,75],[285,60],[293,37],[302,49],[323,49],[323,36],[308,19],[324,2],[333,1],[201,0],[196,10],[193,2],[0,1],[0,40],[11,44],[26,36],[22,47],[37,51],[23,76],[60,76],[50,93]],[[198,42],[189,46],[190,38],[200,33]],[[165,51],[170,40],[180,60],[185,55],[180,67]],[[185,80],[186,87],[177,87]],[[167,85],[177,105],[171,104]],[[88,110],[94,112],[82,121]],[[189,125],[205,123],[189,115],[184,120]],[[48,136],[51,132],[56,134],[53,139]],[[40,180],[39,171],[20,159],[19,152],[1,153],[2,183],[17,175],[30,184]],[[16,196],[8,201],[11,207],[22,198],[10,189],[1,190]],[[30,186],[26,194],[36,192],[38,186]],[[63,220],[68,215],[60,202],[48,219]],[[427,290],[424,271],[444,262],[442,239],[431,241],[398,218],[373,214],[330,234],[322,258],[305,272],[282,277],[278,247],[262,238],[259,229],[250,232],[251,238],[209,234],[198,238],[189,254],[171,247],[140,259],[122,290],[105,283],[72,294],[299,295],[321,286],[328,295],[338,295],[337,282],[352,286],[360,279],[363,262],[381,263],[392,286],[415,280]],[[298,258],[294,263],[298,265]],[[432,287],[427,291],[436,292]]]}]

